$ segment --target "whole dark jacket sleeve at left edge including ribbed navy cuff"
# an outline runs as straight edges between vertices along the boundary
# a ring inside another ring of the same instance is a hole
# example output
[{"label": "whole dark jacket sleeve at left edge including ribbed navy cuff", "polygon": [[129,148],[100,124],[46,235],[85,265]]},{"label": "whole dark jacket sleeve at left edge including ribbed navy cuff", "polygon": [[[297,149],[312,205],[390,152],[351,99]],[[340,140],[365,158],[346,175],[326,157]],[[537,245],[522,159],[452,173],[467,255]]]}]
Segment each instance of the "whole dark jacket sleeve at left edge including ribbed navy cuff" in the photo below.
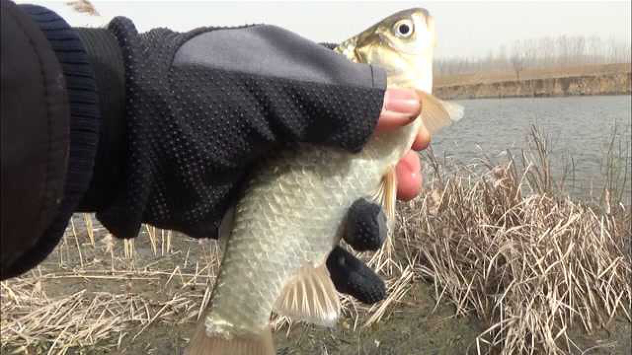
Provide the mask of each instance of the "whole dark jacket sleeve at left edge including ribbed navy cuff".
[{"label": "whole dark jacket sleeve at left edge including ribbed navy cuff", "polygon": [[41,6],[2,11],[0,277],[42,262],[92,176],[99,111],[76,33]]}]

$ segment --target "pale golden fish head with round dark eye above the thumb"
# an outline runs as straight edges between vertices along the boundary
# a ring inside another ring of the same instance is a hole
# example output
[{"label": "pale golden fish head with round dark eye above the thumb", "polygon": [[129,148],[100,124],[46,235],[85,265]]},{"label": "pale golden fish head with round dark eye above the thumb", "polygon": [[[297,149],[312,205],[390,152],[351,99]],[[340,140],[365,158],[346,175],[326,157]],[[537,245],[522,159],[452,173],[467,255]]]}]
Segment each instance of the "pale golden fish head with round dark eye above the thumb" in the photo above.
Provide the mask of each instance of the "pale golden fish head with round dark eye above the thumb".
[{"label": "pale golden fish head with round dark eye above the thumb", "polygon": [[398,11],[356,36],[356,61],[387,72],[389,87],[432,92],[434,18],[427,9]]}]

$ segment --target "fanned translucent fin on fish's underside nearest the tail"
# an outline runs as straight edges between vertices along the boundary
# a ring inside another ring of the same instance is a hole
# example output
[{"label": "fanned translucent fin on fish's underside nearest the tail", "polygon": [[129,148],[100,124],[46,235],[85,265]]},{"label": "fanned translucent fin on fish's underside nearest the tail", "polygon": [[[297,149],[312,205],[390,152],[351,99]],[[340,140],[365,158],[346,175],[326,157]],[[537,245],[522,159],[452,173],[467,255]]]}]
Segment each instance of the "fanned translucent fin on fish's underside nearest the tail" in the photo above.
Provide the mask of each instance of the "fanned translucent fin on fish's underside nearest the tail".
[{"label": "fanned translucent fin on fish's underside nearest the tail", "polygon": [[274,311],[293,320],[324,327],[334,325],[340,314],[340,298],[326,264],[302,267],[284,287]]}]

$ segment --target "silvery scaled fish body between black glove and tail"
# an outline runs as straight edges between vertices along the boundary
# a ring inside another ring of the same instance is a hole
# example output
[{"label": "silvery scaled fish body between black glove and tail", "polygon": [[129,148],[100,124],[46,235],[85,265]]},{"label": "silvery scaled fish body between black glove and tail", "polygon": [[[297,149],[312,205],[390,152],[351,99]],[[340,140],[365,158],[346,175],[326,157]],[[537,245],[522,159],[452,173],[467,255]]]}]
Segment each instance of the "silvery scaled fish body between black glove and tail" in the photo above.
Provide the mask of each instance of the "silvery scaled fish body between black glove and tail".
[{"label": "silvery scaled fish body between black glove and tail", "polygon": [[[233,232],[214,290],[216,296],[210,307],[209,318],[226,325],[224,329],[215,326],[216,332],[238,334],[233,325],[242,325],[241,331],[250,334],[260,332],[261,326],[269,322],[284,280],[305,265],[324,262],[339,241],[338,226],[344,211],[379,185],[380,170],[386,168],[380,169],[379,164],[375,164],[372,159],[375,152],[371,149],[363,150],[351,162],[347,153],[337,150],[314,152],[313,147],[307,146],[297,152],[284,152],[248,184],[237,207]],[[324,155],[327,159],[315,155]],[[341,170],[332,171],[332,166]],[[279,184],[274,193],[256,193],[266,190],[270,179]],[[253,298],[252,289],[269,292],[263,294],[264,297]],[[242,304],[235,302],[233,296],[220,296],[238,294],[248,294],[248,298],[253,299],[252,307],[248,305],[251,302]]]}]

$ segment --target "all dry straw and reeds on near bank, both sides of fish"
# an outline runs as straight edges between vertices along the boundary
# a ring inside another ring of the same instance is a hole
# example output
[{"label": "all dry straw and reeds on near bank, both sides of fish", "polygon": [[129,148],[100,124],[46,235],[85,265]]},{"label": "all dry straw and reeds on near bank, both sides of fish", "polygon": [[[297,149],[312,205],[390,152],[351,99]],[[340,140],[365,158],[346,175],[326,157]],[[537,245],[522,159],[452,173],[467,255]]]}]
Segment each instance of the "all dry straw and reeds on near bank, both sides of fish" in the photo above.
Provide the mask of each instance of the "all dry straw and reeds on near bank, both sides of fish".
[{"label": "all dry straw and reeds on near bank, both sides of fish", "polygon": [[[361,255],[379,268],[389,298],[368,308],[345,297],[345,324],[387,322],[413,282],[432,283],[437,305],[481,320],[471,354],[567,354],[578,347],[571,327],[630,321],[629,206],[608,197],[621,196],[612,185],[600,204],[566,197],[544,136],[533,129],[530,141],[516,160],[508,153],[476,169],[430,154],[427,190],[400,203],[389,258]],[[114,241],[75,218],[46,263],[2,283],[3,353],[90,353],[133,342],[156,323],[197,322],[219,254],[214,242],[152,227],[134,242]],[[272,322],[288,330],[286,318]]]}]

